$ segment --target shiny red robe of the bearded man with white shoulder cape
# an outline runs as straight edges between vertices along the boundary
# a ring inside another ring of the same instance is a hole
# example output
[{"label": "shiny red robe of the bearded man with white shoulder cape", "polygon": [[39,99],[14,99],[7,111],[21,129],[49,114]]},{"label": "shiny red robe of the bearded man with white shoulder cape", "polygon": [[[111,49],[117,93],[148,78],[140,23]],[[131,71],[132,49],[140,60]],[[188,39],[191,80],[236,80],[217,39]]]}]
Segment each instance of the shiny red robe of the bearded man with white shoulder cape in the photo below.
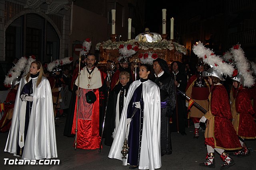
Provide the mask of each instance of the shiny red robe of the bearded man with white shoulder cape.
[{"label": "shiny red robe of the bearded man with white shoulder cape", "polygon": [[[104,84],[104,80],[107,76],[106,73],[102,72],[101,70],[101,81],[102,85]],[[86,91],[86,89],[83,89]],[[88,90],[87,90],[88,91]],[[93,89],[94,94],[96,95],[96,101],[89,105],[92,109],[92,115],[90,119],[78,119],[77,123],[77,145],[76,148],[78,149],[98,149],[100,148],[100,135],[99,135],[99,119],[100,119],[100,91],[99,89]],[[82,102],[80,100],[80,102]],[[84,101],[86,102],[86,101]],[[72,125],[71,134],[76,134],[76,112],[77,112],[77,99],[76,105],[74,109],[74,119]]]}]

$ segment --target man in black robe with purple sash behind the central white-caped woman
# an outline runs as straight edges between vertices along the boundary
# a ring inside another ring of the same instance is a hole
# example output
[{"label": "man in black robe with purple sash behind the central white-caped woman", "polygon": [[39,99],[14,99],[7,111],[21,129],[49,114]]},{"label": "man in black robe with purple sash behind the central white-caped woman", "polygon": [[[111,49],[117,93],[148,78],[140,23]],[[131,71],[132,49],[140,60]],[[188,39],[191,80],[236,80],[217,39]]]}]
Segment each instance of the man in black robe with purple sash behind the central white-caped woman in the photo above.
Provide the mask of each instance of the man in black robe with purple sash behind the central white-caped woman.
[{"label": "man in black robe with purple sash behind the central white-caped woman", "polygon": [[155,83],[160,89],[161,98],[161,155],[172,153],[170,117],[176,106],[175,85],[168,65],[163,59],[153,61]]}]

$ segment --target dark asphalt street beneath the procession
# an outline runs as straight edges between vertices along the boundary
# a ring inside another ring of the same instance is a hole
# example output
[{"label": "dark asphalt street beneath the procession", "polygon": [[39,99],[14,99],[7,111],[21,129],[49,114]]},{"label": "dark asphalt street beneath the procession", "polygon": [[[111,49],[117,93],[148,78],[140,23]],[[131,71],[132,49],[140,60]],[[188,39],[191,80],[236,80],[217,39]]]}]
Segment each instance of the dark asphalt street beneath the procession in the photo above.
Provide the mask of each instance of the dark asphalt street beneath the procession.
[{"label": "dark asphalt street beneath the procession", "polygon": [[[60,118],[56,127],[56,138],[58,146],[58,159],[60,165],[4,165],[4,158],[15,159],[12,154],[4,152],[8,133],[0,133],[0,167],[2,170],[66,170],[66,169],[90,169],[90,170],[128,170],[128,166],[122,166],[122,162],[108,158],[110,147],[103,145],[102,151],[97,150],[74,150],[74,138],[63,136],[64,123],[66,118]],[[162,156],[162,170],[198,170],[210,169],[198,166],[204,162],[206,147],[204,146],[204,132],[200,132],[199,139],[193,139],[193,125],[186,128],[186,136],[172,133],[172,154]],[[104,142],[103,142],[104,143]],[[233,157],[236,164],[230,170],[253,170],[256,169],[256,141],[246,141],[248,147],[254,152],[243,158]],[[215,152],[215,168],[220,169],[223,162]]]}]

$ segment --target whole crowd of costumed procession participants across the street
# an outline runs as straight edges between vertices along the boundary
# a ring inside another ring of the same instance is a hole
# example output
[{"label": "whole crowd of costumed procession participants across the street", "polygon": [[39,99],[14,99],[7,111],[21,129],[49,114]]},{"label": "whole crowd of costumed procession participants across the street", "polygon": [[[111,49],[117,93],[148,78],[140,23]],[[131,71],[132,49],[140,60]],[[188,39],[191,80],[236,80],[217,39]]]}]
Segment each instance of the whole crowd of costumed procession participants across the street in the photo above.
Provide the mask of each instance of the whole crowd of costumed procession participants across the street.
[{"label": "whole crowd of costumed procession participants across the street", "polygon": [[109,158],[130,169],[158,169],[161,156],[172,154],[171,133],[186,135],[186,127],[194,125],[194,138],[205,131],[206,162],[199,165],[214,167],[216,151],[224,162],[221,169],[227,169],[234,164],[230,155],[249,155],[245,140],[256,139],[255,96],[248,93],[255,85],[246,88],[238,74],[228,92],[220,70],[202,60],[195,70],[179,61],[168,66],[160,58],[145,64],[124,57],[97,66],[92,53],[80,64],[75,61],[72,70],[64,66],[49,72],[34,61],[6,99],[12,105],[5,117],[12,115],[12,122],[1,129],[10,129],[4,151],[23,159],[58,157],[55,121],[64,116],[64,136],[76,136],[75,148],[101,149],[104,138],[111,146]]}]

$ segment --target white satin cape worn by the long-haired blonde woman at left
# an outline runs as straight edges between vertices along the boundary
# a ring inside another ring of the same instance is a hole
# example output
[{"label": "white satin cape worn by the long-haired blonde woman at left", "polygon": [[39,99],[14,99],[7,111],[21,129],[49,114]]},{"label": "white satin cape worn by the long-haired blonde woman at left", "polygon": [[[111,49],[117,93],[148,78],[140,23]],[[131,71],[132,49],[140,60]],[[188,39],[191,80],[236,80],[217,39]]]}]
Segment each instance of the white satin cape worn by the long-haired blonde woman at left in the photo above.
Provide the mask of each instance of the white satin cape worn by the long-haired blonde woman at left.
[{"label": "white satin cape worn by the long-haired blonde woman at left", "polygon": [[[36,87],[37,78],[32,78],[33,104],[22,159],[38,160],[43,158],[57,158],[51,88],[49,81],[44,76],[42,77],[41,83]],[[31,77],[29,78],[30,80]],[[13,153],[14,156],[17,156],[17,143],[20,141],[18,139],[18,129],[20,124],[24,124],[25,121],[24,118],[22,119],[24,117],[22,115],[26,112],[26,101],[22,102],[20,92],[26,83],[26,78],[23,77],[16,95],[12,126],[4,149],[4,152]]]}]

